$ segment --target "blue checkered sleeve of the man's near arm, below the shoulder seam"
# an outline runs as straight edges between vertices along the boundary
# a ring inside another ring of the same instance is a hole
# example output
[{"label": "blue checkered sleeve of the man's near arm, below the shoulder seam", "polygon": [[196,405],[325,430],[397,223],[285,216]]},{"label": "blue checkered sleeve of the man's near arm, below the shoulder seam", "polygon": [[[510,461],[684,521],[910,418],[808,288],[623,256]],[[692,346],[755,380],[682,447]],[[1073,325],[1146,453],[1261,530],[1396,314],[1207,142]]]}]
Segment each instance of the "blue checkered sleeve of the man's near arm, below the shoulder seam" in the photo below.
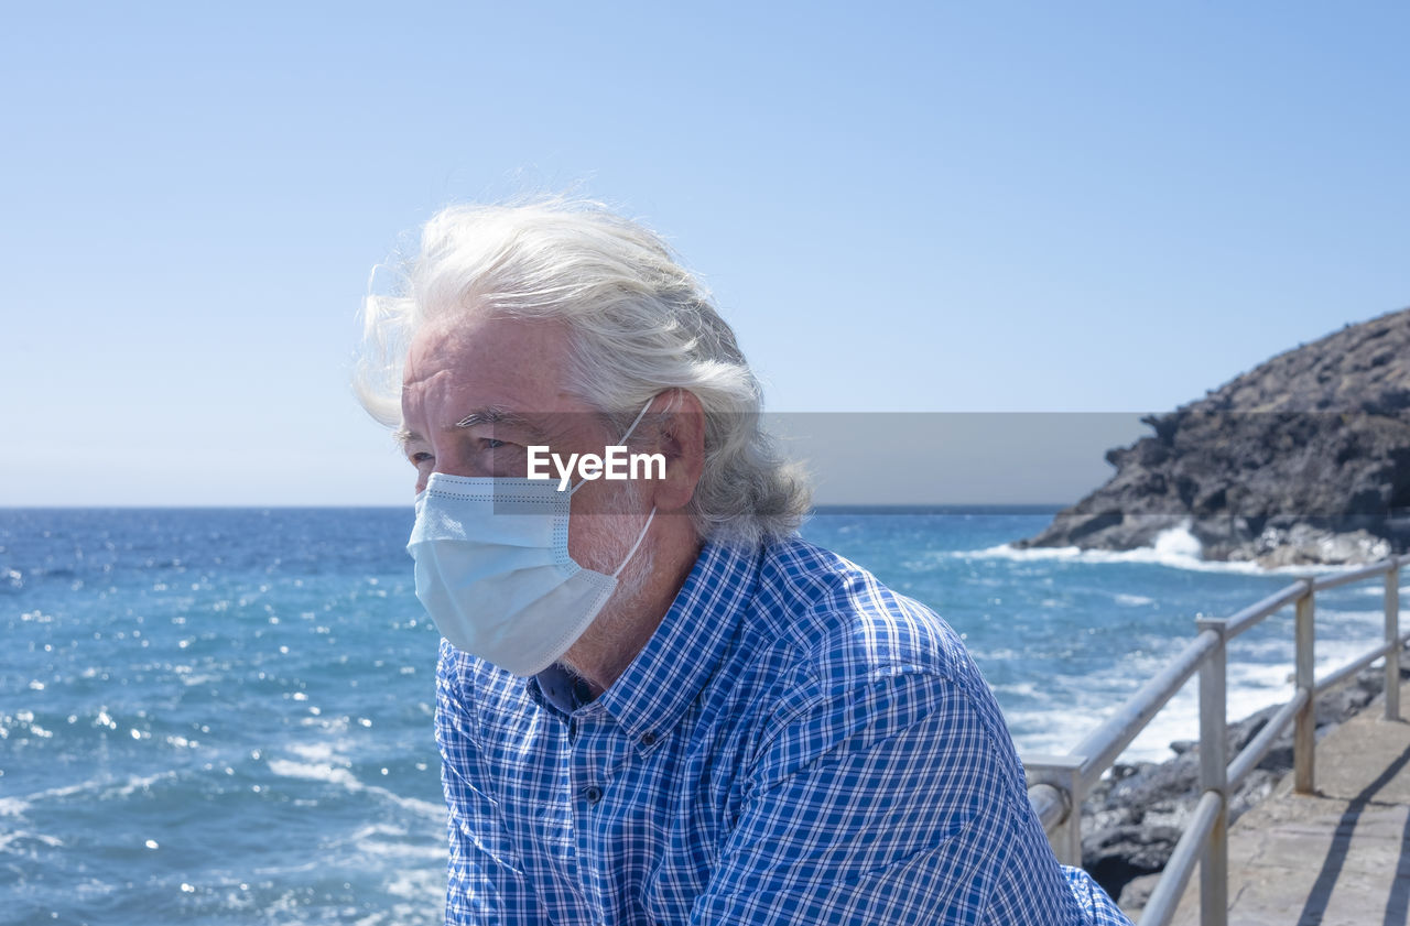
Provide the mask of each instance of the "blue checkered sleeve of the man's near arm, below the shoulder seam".
[{"label": "blue checkered sleeve of the man's near arm, below the shoulder seam", "polygon": [[819,682],[761,746],[691,922],[1093,922],[1010,757],[936,674]]}]

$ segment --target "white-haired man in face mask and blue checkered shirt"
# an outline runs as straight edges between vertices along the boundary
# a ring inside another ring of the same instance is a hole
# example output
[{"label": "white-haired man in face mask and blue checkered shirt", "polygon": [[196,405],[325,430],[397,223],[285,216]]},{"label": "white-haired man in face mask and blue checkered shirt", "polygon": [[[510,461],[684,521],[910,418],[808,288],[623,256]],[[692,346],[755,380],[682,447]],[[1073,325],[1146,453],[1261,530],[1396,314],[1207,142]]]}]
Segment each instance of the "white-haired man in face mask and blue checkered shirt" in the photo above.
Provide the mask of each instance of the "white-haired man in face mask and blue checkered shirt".
[{"label": "white-haired man in face mask and blue checkered shirt", "polygon": [[[955,631],[797,536],[759,383],[658,238],[450,209],[367,331],[444,636],[447,922],[1128,923],[1053,858]],[[658,465],[594,478],[612,447]]]}]

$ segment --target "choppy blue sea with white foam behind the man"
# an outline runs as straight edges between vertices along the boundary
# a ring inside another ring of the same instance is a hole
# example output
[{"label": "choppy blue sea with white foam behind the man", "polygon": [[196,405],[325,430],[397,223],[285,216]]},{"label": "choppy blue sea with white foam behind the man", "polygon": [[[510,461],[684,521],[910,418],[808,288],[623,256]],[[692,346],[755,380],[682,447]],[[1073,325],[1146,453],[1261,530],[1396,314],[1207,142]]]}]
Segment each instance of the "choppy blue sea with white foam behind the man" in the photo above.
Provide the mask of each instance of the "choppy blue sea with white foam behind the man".
[{"label": "choppy blue sea with white foam behind the man", "polygon": [[[1055,509],[822,510],[804,529],[960,631],[1021,751],[1066,751],[1193,636],[1289,581],[1014,551]],[[0,923],[440,922],[437,634],[410,509],[0,510]],[[1318,599],[1318,662],[1380,636]],[[1283,700],[1292,620],[1231,653],[1231,717]],[[1193,684],[1127,753],[1196,736]]]}]

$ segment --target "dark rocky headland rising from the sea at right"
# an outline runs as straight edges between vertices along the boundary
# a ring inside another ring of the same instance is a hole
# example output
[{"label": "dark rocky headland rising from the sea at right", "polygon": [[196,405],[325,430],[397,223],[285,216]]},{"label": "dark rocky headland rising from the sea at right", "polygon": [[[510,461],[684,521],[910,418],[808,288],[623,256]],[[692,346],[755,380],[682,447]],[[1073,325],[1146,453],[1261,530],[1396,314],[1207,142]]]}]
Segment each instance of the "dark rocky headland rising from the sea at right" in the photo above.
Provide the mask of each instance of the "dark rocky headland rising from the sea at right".
[{"label": "dark rocky headland rising from the sea at right", "polygon": [[1280,354],[1107,452],[1117,474],[1017,547],[1361,562],[1410,547],[1410,309]]}]

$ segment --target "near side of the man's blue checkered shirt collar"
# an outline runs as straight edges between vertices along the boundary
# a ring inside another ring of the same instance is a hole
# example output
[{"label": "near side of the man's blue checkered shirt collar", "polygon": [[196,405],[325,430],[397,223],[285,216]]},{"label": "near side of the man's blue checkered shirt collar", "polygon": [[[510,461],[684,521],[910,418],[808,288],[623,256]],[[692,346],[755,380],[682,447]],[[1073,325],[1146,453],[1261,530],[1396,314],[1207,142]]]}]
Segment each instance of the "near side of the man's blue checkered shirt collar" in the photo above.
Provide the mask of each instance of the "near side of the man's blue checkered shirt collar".
[{"label": "near side of the man's blue checkered shirt collar", "polygon": [[637,750],[675,729],[725,657],[759,579],[760,548],[708,543],[646,647],[596,703]]}]

